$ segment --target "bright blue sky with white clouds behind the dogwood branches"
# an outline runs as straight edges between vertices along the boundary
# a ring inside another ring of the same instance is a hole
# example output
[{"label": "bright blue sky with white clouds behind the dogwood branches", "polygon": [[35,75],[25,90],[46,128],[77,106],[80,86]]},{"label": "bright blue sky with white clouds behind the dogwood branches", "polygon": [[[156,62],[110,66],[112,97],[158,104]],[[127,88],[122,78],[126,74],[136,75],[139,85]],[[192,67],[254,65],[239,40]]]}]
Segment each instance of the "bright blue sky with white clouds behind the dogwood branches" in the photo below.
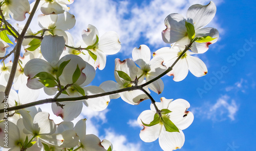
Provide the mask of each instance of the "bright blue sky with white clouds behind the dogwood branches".
[{"label": "bright blue sky with white clouds behind the dogwood branches", "polygon": [[[190,103],[194,122],[184,130],[185,143],[180,150],[256,150],[253,131],[255,102],[255,1],[213,1],[217,5],[214,20],[208,25],[219,30],[220,38],[209,50],[197,55],[208,74],[195,77],[191,73],[180,82],[164,76],[162,94],[152,92],[156,101],[183,98]],[[131,58],[134,47],[142,44],[151,52],[169,46],[162,41],[163,21],[170,13],[185,16],[189,6],[206,5],[209,1],[152,0],[152,1],[75,1],[70,13],[76,17],[76,26],[70,30],[74,40],[81,40],[81,31],[94,25],[99,34],[116,31],[122,44],[121,52],[107,57],[106,68],[97,70],[92,85],[114,80],[114,59]],[[33,20],[37,25],[37,20]],[[39,29],[33,26],[33,31]],[[46,97],[40,95],[38,99]],[[150,100],[130,105],[121,98],[111,100],[106,110],[92,112],[83,107],[75,120],[87,118],[88,134],[109,139],[114,150],[161,150],[158,140],[145,143],[139,138],[141,127],[134,122],[139,114],[150,109]],[[42,105],[47,109],[47,105]],[[59,118],[52,116],[56,121]]]}]

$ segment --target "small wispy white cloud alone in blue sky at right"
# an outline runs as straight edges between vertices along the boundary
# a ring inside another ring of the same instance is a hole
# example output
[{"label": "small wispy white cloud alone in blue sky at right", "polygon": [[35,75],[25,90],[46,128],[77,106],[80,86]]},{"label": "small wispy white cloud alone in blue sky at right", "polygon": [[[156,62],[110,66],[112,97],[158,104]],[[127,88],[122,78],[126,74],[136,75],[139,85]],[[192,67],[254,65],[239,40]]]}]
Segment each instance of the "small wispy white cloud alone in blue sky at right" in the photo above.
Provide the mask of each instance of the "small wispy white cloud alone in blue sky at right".
[{"label": "small wispy white cloud alone in blue sky at right", "polygon": [[231,121],[235,120],[235,115],[239,110],[239,105],[229,96],[224,95],[220,97],[215,104],[210,102],[204,103],[201,107],[191,108],[191,112],[195,116],[211,119],[213,121],[224,121],[229,118]]}]

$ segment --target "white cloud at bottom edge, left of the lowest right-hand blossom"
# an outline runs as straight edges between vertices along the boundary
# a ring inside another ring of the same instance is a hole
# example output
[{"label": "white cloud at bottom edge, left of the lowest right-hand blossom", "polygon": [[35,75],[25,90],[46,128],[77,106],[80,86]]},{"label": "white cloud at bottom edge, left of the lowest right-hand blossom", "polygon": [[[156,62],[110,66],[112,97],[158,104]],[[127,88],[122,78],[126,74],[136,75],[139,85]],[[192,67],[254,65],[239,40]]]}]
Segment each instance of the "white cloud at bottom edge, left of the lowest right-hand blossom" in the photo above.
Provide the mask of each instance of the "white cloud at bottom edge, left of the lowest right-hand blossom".
[{"label": "white cloud at bottom edge, left of the lowest right-hand blossom", "polygon": [[122,150],[122,151],[141,150],[140,143],[128,142],[128,140],[124,135],[116,134],[110,128],[108,130],[105,130],[105,136],[103,139],[107,139],[113,144],[113,147],[114,147],[113,150]]}]

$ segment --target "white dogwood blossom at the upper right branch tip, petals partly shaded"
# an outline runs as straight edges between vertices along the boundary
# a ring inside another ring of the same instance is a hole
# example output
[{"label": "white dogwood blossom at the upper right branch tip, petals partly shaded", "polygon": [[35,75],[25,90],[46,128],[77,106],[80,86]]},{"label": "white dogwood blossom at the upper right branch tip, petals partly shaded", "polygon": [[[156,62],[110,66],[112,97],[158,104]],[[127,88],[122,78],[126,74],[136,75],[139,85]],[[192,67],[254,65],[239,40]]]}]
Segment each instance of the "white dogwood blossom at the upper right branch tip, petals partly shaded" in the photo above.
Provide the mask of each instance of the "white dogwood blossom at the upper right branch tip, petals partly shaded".
[{"label": "white dogwood blossom at the upper right branch tip, petals partly shaded", "polygon": [[210,2],[208,5],[202,6],[199,4],[192,5],[187,10],[187,18],[184,18],[181,14],[173,13],[169,14],[164,24],[166,29],[162,31],[163,41],[172,44],[177,42],[181,47],[189,44],[189,37],[187,34],[186,22],[194,25],[195,37],[210,36],[216,38],[208,42],[194,42],[191,51],[194,53],[204,53],[208,50],[210,44],[214,44],[219,38],[219,32],[215,28],[203,28],[205,27],[216,13],[216,6],[214,2]]}]

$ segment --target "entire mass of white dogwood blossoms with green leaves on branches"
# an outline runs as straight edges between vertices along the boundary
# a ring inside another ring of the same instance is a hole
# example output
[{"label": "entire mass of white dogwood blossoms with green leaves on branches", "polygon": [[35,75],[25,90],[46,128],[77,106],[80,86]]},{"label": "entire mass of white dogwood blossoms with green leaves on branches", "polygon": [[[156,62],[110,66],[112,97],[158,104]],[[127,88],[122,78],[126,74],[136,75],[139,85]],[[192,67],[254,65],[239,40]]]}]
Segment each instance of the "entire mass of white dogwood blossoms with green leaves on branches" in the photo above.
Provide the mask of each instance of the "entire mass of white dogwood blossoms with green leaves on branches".
[{"label": "entire mass of white dogwood blossoms with green leaves on branches", "polygon": [[[115,59],[116,81],[104,81],[97,87],[90,85],[96,70],[105,68],[106,55],[120,51],[119,36],[114,31],[100,36],[96,27],[88,25],[81,33],[81,40],[75,42],[68,32],[76,23],[67,6],[73,2],[0,1],[0,57],[3,59],[0,64],[0,110],[4,111],[0,112],[0,146],[6,150],[112,150],[110,141],[100,141],[97,136],[86,133],[86,119],[75,125],[71,121],[81,114],[83,104],[93,111],[102,111],[111,99],[121,97],[132,105],[147,99],[152,102],[151,110],[143,111],[138,117],[138,123],[143,126],[139,135],[142,141],[152,142],[159,138],[163,150],[181,148],[185,141],[182,130],[194,120],[193,113],[187,111],[189,103],[184,99],[173,101],[164,97],[155,102],[151,92],[158,95],[163,92],[161,77],[165,74],[174,76],[174,81],[183,80],[188,70],[197,77],[207,74],[205,63],[193,55],[205,53],[219,38],[217,29],[204,28],[215,16],[215,4],[190,6],[187,18],[177,13],[169,14],[164,20],[166,29],[162,31],[162,38],[171,44],[170,47],[156,50],[153,58],[146,45],[134,48],[132,59]],[[37,19],[41,30],[37,32],[28,28],[31,19],[26,25],[17,26],[18,30],[7,21],[10,16],[16,21],[25,20],[26,13],[33,17],[39,9],[42,14]],[[15,46],[10,47],[14,44],[8,35],[17,42]],[[8,47],[13,51],[6,54]],[[22,47],[25,52],[20,55]],[[13,61],[5,63],[13,52]],[[31,105],[39,89],[54,96],[47,99],[47,103],[52,103],[52,112],[62,118],[61,123],[55,124],[49,119],[49,113]],[[8,146],[4,140],[5,124],[12,130],[8,134]]]}]

